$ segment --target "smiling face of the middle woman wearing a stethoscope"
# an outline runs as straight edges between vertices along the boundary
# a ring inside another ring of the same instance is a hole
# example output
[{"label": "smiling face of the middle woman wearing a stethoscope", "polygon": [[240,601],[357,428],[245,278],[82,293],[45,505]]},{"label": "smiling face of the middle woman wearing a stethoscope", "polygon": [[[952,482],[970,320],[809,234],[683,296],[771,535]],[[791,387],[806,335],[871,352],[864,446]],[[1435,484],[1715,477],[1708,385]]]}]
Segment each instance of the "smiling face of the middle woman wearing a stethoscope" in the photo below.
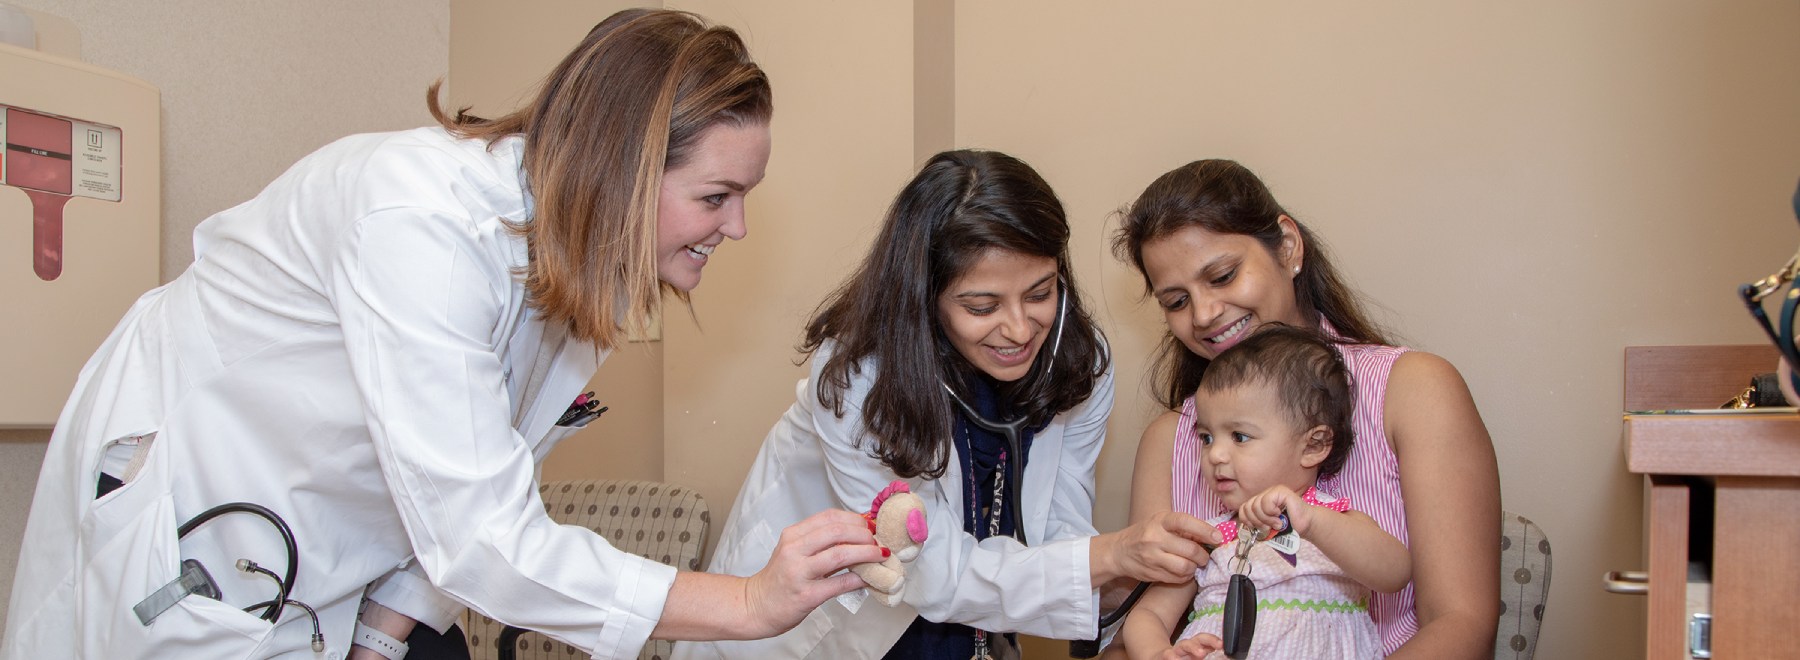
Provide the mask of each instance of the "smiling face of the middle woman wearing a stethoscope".
[{"label": "smiling face of the middle woman wearing a stethoscope", "polygon": [[938,295],[938,322],[963,360],[1017,381],[1057,320],[1057,259],[990,248]]}]

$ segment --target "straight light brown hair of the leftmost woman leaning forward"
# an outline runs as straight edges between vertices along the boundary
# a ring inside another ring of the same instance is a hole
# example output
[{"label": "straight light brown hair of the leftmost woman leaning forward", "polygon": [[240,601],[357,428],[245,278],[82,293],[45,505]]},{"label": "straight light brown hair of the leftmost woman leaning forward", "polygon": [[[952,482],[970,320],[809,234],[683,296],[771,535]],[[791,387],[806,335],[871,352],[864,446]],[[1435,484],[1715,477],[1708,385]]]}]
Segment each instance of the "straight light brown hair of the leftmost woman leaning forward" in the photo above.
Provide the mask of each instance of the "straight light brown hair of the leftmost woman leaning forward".
[{"label": "straight light brown hair of the leftmost woman leaning forward", "polygon": [[738,32],[662,9],[607,16],[531,104],[504,117],[446,115],[439,85],[427,104],[450,133],[490,144],[524,135],[535,210],[513,230],[531,252],[526,291],[547,322],[601,349],[655,315],[664,169],[691,158],[707,128],[767,124],[774,111],[769,77]]}]

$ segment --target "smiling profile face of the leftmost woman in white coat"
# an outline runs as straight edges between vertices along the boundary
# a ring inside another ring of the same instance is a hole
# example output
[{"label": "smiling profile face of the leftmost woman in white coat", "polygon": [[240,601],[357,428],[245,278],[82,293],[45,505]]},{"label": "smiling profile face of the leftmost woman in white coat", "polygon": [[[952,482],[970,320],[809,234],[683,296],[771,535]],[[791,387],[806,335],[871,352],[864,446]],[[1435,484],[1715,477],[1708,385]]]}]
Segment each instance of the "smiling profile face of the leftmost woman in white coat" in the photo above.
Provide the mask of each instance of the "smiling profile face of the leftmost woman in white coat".
[{"label": "smiling profile face of the leftmost woman in white coat", "polygon": [[715,124],[688,162],[662,173],[657,196],[657,277],[679,291],[700,286],[700,268],[725,239],[742,239],[743,196],[769,165],[767,124]]}]

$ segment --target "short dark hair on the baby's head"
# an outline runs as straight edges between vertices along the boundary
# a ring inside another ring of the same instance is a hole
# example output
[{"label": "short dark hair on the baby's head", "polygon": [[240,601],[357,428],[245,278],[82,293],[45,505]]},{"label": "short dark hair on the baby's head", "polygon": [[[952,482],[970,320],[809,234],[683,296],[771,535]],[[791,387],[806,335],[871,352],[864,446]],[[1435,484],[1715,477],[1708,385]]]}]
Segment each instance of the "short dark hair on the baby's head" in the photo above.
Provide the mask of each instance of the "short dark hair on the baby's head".
[{"label": "short dark hair on the baby's head", "polygon": [[1292,326],[1269,326],[1213,358],[1199,390],[1224,392],[1253,383],[1274,387],[1282,412],[1294,424],[1332,430],[1332,450],[1319,462],[1319,477],[1343,469],[1355,442],[1350,430],[1355,392],[1350,388],[1350,369],[1328,340]]}]

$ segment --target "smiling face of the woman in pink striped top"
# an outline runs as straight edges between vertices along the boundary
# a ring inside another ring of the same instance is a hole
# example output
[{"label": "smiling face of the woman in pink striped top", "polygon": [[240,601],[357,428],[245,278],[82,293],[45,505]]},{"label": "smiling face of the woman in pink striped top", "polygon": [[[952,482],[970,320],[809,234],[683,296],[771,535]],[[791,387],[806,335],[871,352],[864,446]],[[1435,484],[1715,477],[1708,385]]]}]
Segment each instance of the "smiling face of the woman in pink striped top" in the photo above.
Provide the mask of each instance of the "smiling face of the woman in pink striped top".
[{"label": "smiling face of the woman in pink striped top", "polygon": [[1150,295],[1188,351],[1213,360],[1267,324],[1312,327],[1294,302],[1294,268],[1305,245],[1292,218],[1280,223],[1274,252],[1251,236],[1197,225],[1145,243]]}]

